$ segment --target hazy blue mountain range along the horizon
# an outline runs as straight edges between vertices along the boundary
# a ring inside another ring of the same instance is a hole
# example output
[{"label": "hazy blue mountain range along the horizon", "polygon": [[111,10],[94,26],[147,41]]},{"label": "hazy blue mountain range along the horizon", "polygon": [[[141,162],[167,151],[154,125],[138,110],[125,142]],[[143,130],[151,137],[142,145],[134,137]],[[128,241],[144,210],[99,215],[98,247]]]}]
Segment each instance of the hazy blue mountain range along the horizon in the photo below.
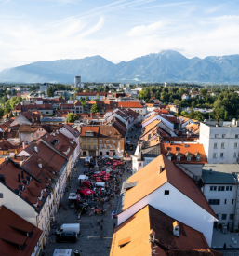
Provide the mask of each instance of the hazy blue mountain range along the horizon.
[{"label": "hazy blue mountain range along the horizon", "polygon": [[166,50],[118,64],[100,56],[38,61],[0,72],[0,82],[71,84],[75,75],[81,75],[83,82],[237,84],[239,55],[188,59],[177,51]]}]

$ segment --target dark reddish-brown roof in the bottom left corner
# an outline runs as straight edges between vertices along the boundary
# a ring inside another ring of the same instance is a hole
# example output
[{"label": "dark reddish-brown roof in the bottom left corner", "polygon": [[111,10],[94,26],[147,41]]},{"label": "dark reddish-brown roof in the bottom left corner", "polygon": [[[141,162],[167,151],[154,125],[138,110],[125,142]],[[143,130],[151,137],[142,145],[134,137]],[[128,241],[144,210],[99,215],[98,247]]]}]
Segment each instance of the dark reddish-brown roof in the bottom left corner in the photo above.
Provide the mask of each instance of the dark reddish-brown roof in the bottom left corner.
[{"label": "dark reddish-brown roof in the bottom left corner", "polygon": [[19,215],[4,206],[0,208],[0,226],[1,255],[32,255],[33,249],[42,234],[39,228],[20,218]]}]

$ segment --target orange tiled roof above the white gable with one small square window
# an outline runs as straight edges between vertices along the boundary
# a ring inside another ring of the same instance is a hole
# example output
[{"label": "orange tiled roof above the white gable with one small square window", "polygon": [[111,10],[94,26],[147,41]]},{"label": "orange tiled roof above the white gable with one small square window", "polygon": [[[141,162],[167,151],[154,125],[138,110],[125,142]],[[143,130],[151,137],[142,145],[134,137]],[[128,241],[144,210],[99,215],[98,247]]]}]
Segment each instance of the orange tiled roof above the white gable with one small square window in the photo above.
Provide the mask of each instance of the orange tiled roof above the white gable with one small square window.
[{"label": "orange tiled roof above the white gable with one small square window", "polygon": [[[159,173],[159,167],[165,170]],[[138,182],[138,184],[126,191],[125,203],[123,210],[128,209],[146,195],[151,194],[154,190],[169,182],[176,187],[182,194],[187,195],[197,205],[206,209],[215,217],[213,209],[209,206],[202,191],[197,188],[197,184],[180,168],[175,166],[165,155],[161,154],[144,168],[132,175],[128,183]]]}]

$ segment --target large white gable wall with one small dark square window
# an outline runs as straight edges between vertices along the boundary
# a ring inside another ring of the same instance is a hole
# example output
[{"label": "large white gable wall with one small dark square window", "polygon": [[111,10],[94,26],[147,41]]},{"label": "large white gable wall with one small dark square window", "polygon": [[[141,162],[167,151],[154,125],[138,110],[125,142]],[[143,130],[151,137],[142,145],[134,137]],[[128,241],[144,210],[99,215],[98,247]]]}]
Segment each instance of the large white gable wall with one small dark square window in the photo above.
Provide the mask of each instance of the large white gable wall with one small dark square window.
[{"label": "large white gable wall with one small dark square window", "polygon": [[[165,190],[169,190],[169,195],[165,195]],[[147,204],[153,206],[155,209],[161,210],[179,222],[183,222],[202,232],[206,237],[209,247],[211,246],[213,223],[216,219],[168,182],[152,194],[139,200],[138,203],[129,209],[120,213],[118,215],[118,225],[125,222]]]}]

